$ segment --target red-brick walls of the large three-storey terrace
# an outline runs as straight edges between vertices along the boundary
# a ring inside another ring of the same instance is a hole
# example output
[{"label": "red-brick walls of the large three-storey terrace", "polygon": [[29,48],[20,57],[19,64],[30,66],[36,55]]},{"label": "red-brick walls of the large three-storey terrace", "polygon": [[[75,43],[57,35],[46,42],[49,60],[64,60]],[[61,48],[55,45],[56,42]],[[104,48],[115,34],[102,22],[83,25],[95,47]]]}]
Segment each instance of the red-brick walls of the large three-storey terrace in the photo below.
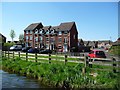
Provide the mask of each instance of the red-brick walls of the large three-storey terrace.
[{"label": "red-brick walls of the large three-storey terrace", "polygon": [[[59,35],[57,33],[57,35],[41,35],[41,34],[35,34],[35,30],[36,29],[40,29],[41,27],[38,26],[37,28],[35,28],[34,30],[32,30],[32,34],[30,34],[30,31],[28,34],[26,34],[26,31],[24,31],[24,41],[25,43],[28,43],[28,46],[30,46],[30,43],[31,43],[31,46],[34,48],[34,47],[40,47],[40,36],[43,38],[43,41],[42,43],[44,45],[52,45],[52,44],[55,44],[55,47],[57,48],[57,51],[58,52],[63,52],[64,48],[63,46],[65,45],[64,43],[64,38],[67,38],[67,47],[68,47],[68,51],[70,48],[72,47],[77,47],[78,46],[78,32],[77,32],[77,29],[76,29],[76,25],[74,24],[74,26],[71,28],[71,30],[69,30],[69,33],[68,34],[64,34],[62,33],[61,35]],[[64,30],[63,30],[64,31]],[[74,35],[75,35],[75,38],[74,38]],[[28,36],[28,40],[26,40],[26,36]],[[32,40],[30,40],[30,36],[32,36]],[[38,41],[35,41],[35,38],[38,38]],[[46,40],[46,38],[49,38],[51,40],[51,38],[54,38],[54,42],[49,42]],[[59,38],[61,38],[61,42],[59,42]],[[59,46],[61,46],[61,49],[59,48]]]}]

